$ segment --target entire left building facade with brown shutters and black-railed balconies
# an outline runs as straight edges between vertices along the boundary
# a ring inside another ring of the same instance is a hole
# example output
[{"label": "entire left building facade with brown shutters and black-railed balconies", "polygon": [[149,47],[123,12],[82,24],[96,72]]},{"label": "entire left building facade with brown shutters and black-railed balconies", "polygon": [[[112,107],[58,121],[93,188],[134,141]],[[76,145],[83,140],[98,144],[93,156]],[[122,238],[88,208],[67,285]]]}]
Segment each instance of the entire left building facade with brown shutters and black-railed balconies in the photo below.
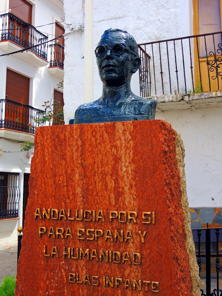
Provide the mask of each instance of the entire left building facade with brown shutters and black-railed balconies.
[{"label": "entire left building facade with brown shutters and black-railed balconies", "polygon": [[34,142],[44,102],[62,104],[63,1],[1,0],[0,20],[1,244],[16,240],[24,221],[33,149],[21,152],[21,144]]}]

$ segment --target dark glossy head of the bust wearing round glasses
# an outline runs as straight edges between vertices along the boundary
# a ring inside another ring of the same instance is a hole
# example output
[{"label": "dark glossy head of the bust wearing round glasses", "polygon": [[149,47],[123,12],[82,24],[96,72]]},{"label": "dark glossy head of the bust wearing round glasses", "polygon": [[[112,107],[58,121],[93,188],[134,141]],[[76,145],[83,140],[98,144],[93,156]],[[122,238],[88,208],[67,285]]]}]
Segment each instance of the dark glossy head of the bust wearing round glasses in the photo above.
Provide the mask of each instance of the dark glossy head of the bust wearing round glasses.
[{"label": "dark glossy head of the bust wearing round glasses", "polygon": [[119,29],[106,30],[95,50],[99,76],[107,86],[121,86],[139,69],[136,40]]}]

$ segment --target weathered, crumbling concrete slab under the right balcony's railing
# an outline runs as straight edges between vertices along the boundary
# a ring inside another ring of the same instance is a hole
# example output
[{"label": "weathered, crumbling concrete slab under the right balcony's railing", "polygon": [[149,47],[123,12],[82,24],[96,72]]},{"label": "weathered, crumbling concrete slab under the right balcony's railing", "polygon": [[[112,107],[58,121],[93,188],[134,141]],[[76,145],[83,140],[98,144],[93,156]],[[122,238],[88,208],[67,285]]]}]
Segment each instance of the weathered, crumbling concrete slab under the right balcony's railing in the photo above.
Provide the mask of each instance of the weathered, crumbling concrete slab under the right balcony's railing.
[{"label": "weathered, crumbling concrete slab under the right balcony's railing", "polygon": [[169,109],[196,109],[200,107],[222,105],[222,91],[201,94],[177,94],[170,96],[149,97],[156,99],[157,111]]}]

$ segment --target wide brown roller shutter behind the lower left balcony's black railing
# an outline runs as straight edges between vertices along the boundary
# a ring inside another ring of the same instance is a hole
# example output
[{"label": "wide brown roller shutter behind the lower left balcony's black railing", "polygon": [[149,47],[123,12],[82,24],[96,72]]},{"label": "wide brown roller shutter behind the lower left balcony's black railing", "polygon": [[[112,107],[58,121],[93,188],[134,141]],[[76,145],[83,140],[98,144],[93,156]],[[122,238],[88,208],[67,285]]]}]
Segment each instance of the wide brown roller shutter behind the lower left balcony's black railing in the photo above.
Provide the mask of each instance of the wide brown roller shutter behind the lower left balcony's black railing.
[{"label": "wide brown roller shutter behind the lower left balcony's black railing", "polygon": [[[7,69],[6,73],[6,92],[7,99],[21,103],[29,104],[29,84],[30,79],[19,73]],[[12,102],[6,103],[5,119],[13,122],[28,124],[28,107]],[[27,118],[26,118],[27,117]],[[19,119],[18,119],[19,118]],[[17,120],[16,120],[17,119]]]}]

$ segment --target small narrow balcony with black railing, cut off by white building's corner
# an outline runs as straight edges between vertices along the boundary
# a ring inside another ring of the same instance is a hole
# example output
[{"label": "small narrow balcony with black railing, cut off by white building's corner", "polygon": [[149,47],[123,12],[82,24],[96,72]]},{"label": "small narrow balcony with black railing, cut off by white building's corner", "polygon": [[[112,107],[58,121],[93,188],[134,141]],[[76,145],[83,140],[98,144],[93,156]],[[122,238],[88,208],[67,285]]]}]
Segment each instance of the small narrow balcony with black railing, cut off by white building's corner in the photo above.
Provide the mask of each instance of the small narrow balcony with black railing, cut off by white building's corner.
[{"label": "small narrow balcony with black railing, cut off by white building's corner", "polygon": [[64,46],[61,44],[55,43],[50,44],[51,55],[49,62],[49,73],[60,79],[64,79]]}]

